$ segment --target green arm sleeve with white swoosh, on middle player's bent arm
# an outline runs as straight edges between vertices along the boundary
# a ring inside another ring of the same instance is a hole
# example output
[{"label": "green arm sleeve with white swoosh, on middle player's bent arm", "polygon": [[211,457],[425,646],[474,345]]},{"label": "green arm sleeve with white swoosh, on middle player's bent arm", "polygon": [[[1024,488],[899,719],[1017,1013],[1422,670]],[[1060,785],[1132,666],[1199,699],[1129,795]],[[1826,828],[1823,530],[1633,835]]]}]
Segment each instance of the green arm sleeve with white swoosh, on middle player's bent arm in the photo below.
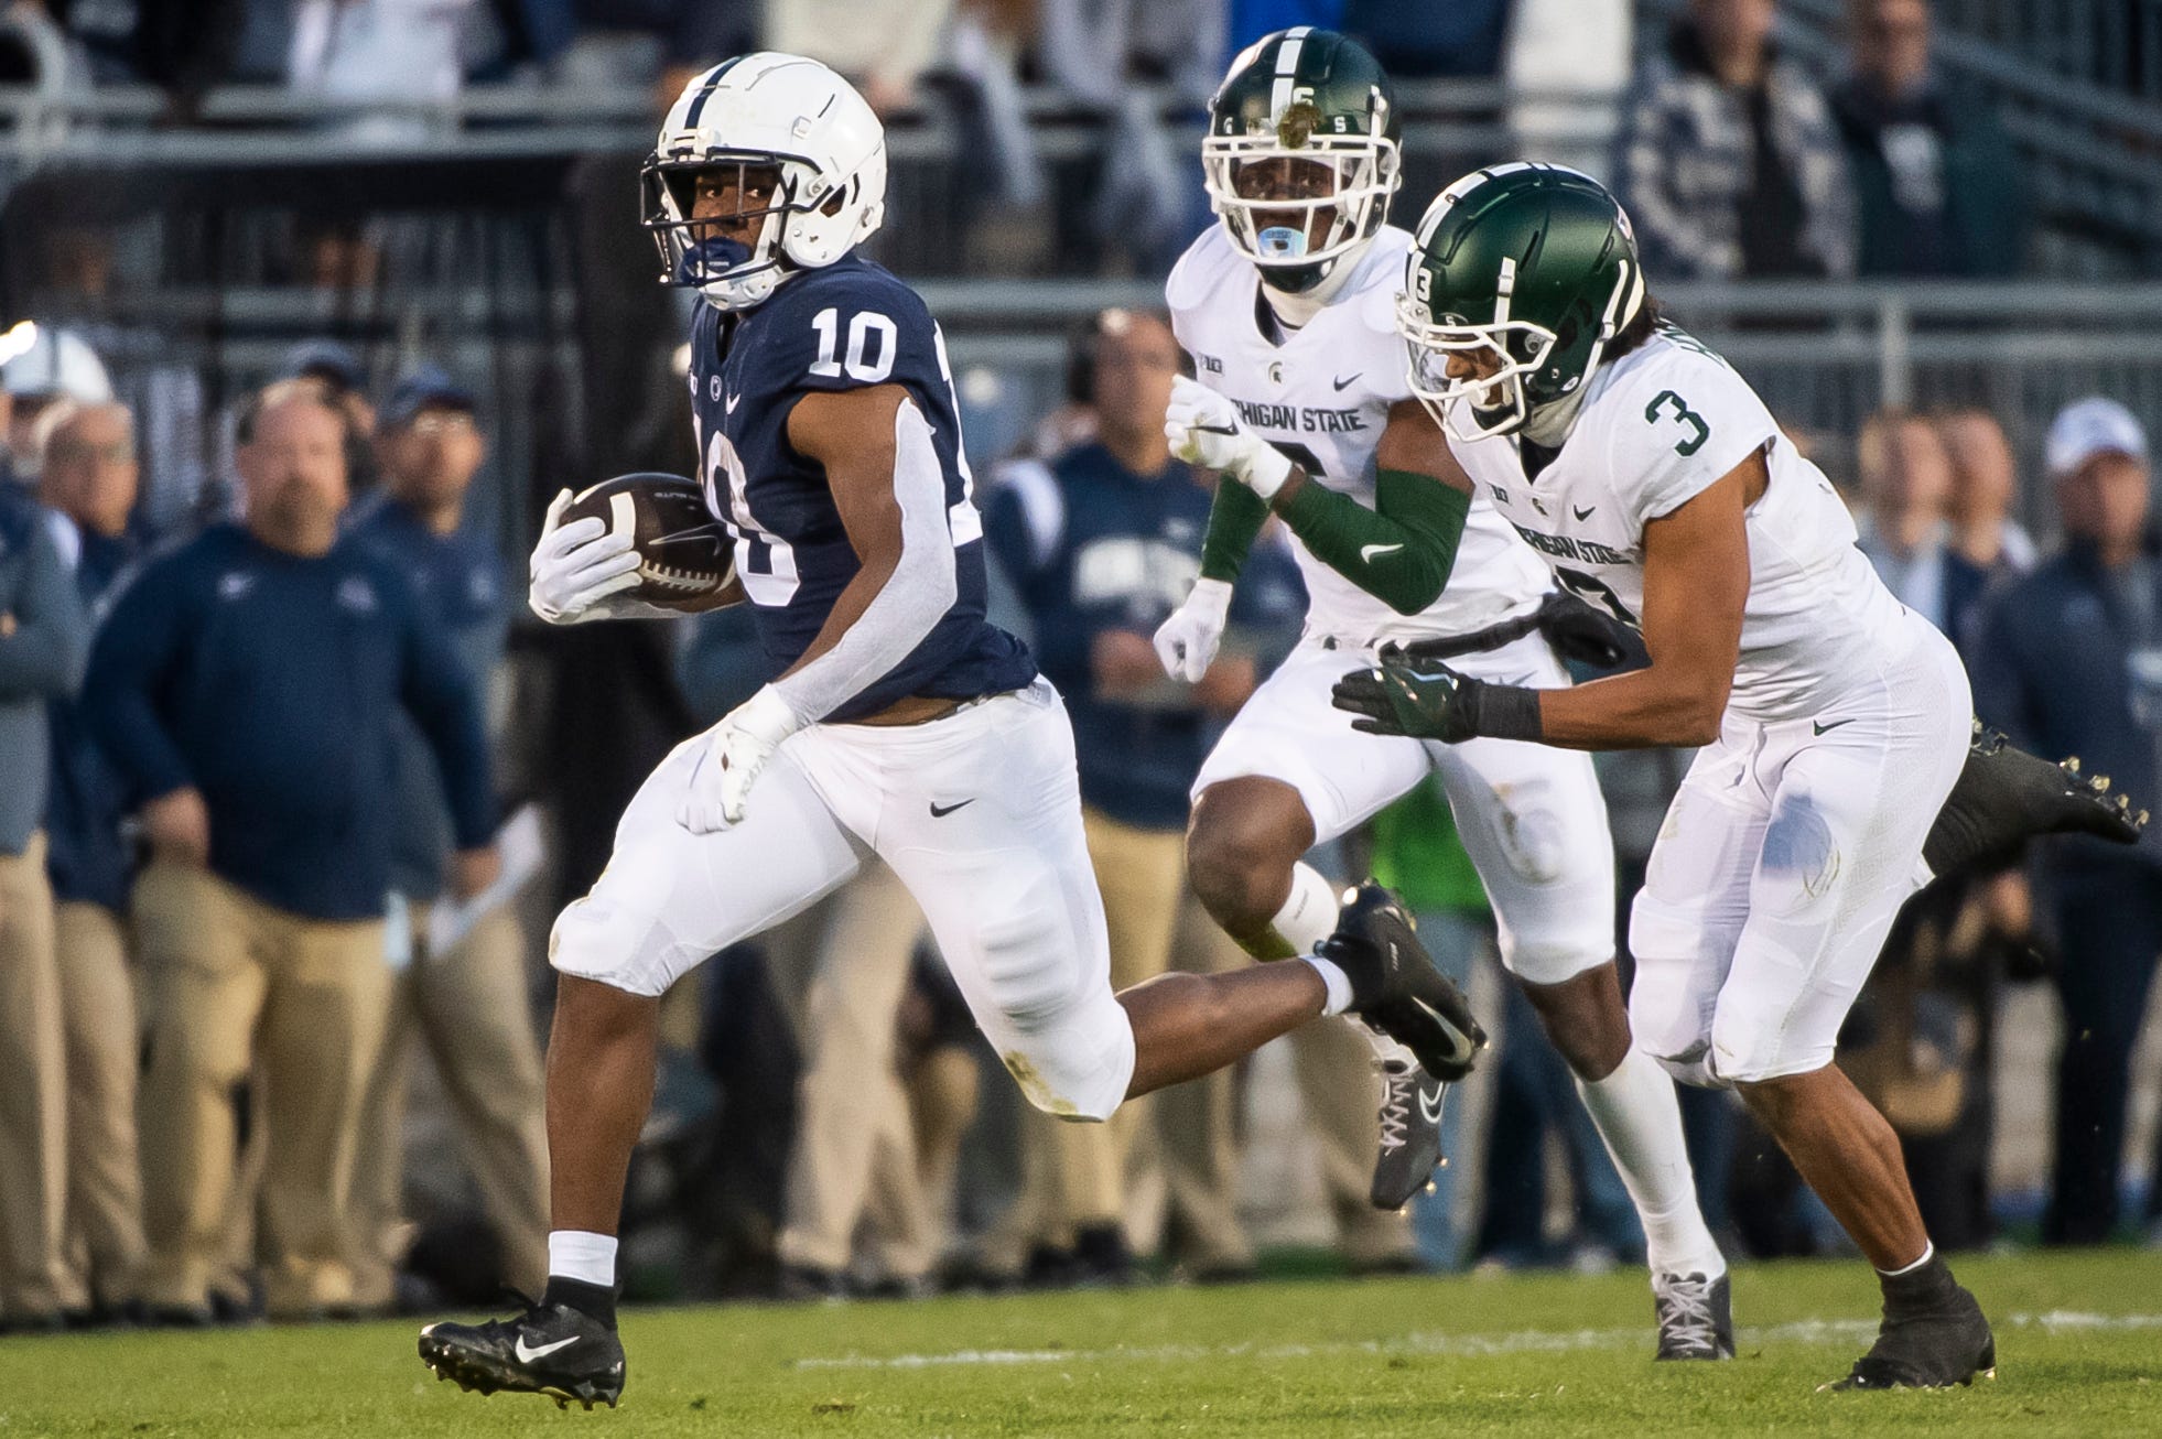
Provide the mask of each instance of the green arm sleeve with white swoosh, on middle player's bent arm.
[{"label": "green arm sleeve with white swoosh, on middle player's bent arm", "polygon": [[1397,614],[1418,614],[1449,583],[1470,508],[1468,493],[1433,475],[1384,469],[1373,510],[1308,475],[1282,514],[1314,560]]}]

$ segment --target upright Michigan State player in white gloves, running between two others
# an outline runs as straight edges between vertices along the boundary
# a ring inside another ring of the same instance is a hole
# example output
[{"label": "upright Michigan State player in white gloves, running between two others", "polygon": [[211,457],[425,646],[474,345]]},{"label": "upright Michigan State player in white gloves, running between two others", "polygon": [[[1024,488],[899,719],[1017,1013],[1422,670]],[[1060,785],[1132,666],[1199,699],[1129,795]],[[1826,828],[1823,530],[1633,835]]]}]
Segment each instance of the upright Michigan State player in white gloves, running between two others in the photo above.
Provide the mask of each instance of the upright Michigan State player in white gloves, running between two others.
[{"label": "upright Michigan State player in white gloves, running between two others", "polygon": [[[1542,633],[1550,581],[1455,473],[1412,398],[1394,296],[1410,236],[1390,229],[1397,138],[1388,78],[1312,28],[1243,52],[1211,102],[1202,149],[1222,225],[1165,287],[1198,380],[1180,380],[1172,445],[1219,469],[1202,579],[1157,633],[1198,681],[1247,544],[1273,510],[1293,538],[1306,635],[1232,720],[1193,786],[1193,888],[1247,953],[1310,953],[1336,914],[1302,862],[1440,771],[1494,903],[1500,951],[1576,1074],[1643,1216],[1658,1357],[1732,1357],[1725,1260],[1697,1210],[1673,1082],[1630,1046],[1613,964],[1613,845],[1589,756],[1511,741],[1364,739],[1330,704],[1388,642],[1423,642],[1470,674],[1567,685]],[[1462,542],[1457,540],[1462,536]],[[1444,579],[1455,573],[1446,592]],[[1613,659],[1609,659],[1613,663]],[[1377,1044],[1384,1072],[1375,1203],[1394,1208],[1440,1156],[1442,1087]]]}]

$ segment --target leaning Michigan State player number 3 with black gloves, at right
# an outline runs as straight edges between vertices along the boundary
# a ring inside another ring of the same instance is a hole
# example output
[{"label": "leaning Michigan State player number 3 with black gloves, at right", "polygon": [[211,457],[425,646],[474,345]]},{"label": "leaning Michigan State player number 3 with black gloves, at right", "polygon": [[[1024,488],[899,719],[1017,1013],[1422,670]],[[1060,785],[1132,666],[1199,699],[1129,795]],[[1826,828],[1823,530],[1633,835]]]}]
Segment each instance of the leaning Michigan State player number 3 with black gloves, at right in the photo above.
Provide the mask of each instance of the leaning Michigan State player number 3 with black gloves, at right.
[{"label": "leaning Michigan State player number 3 with black gloves, at right", "polygon": [[1466,175],[1420,220],[1403,290],[1410,385],[1457,482],[1639,629],[1650,665],[1561,689],[1386,655],[1338,707],[1449,743],[1701,745],[1630,920],[1637,1044],[1736,1089],[1877,1266],[1883,1329],[1840,1387],[1991,1372],[1989,1324],[1833,1039],[1931,873],[2032,832],[2130,838],[2136,821],[2106,782],[1991,743],[1970,756],[1952,644],[1877,579],[1749,385],[1658,320],[1598,181]]}]

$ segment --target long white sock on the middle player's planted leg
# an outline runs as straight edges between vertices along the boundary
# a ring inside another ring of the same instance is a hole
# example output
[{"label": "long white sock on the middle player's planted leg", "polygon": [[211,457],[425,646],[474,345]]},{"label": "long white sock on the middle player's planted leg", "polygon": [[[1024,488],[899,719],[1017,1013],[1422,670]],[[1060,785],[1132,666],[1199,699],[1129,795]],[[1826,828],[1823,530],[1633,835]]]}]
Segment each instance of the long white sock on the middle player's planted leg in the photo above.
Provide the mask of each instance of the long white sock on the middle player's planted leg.
[{"label": "long white sock on the middle player's planted leg", "polygon": [[1632,1048],[1606,1078],[1578,1078],[1576,1093],[1637,1203],[1652,1273],[1706,1279],[1727,1273],[1727,1260],[1697,1210],[1697,1184],[1682,1143],[1682,1106],[1658,1061]]}]

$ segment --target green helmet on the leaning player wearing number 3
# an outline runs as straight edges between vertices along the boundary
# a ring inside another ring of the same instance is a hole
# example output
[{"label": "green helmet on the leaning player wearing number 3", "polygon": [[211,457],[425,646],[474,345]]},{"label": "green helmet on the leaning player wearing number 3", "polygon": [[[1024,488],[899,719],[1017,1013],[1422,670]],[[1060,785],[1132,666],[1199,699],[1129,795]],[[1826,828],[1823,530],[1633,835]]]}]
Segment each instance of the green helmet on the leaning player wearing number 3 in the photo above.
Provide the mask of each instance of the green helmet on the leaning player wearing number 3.
[{"label": "green helmet on the leaning player wearing number 3", "polygon": [[1412,393],[1464,441],[1509,434],[1576,393],[1643,309],[1628,216],[1559,164],[1496,164],[1442,190],[1403,281]]}]

